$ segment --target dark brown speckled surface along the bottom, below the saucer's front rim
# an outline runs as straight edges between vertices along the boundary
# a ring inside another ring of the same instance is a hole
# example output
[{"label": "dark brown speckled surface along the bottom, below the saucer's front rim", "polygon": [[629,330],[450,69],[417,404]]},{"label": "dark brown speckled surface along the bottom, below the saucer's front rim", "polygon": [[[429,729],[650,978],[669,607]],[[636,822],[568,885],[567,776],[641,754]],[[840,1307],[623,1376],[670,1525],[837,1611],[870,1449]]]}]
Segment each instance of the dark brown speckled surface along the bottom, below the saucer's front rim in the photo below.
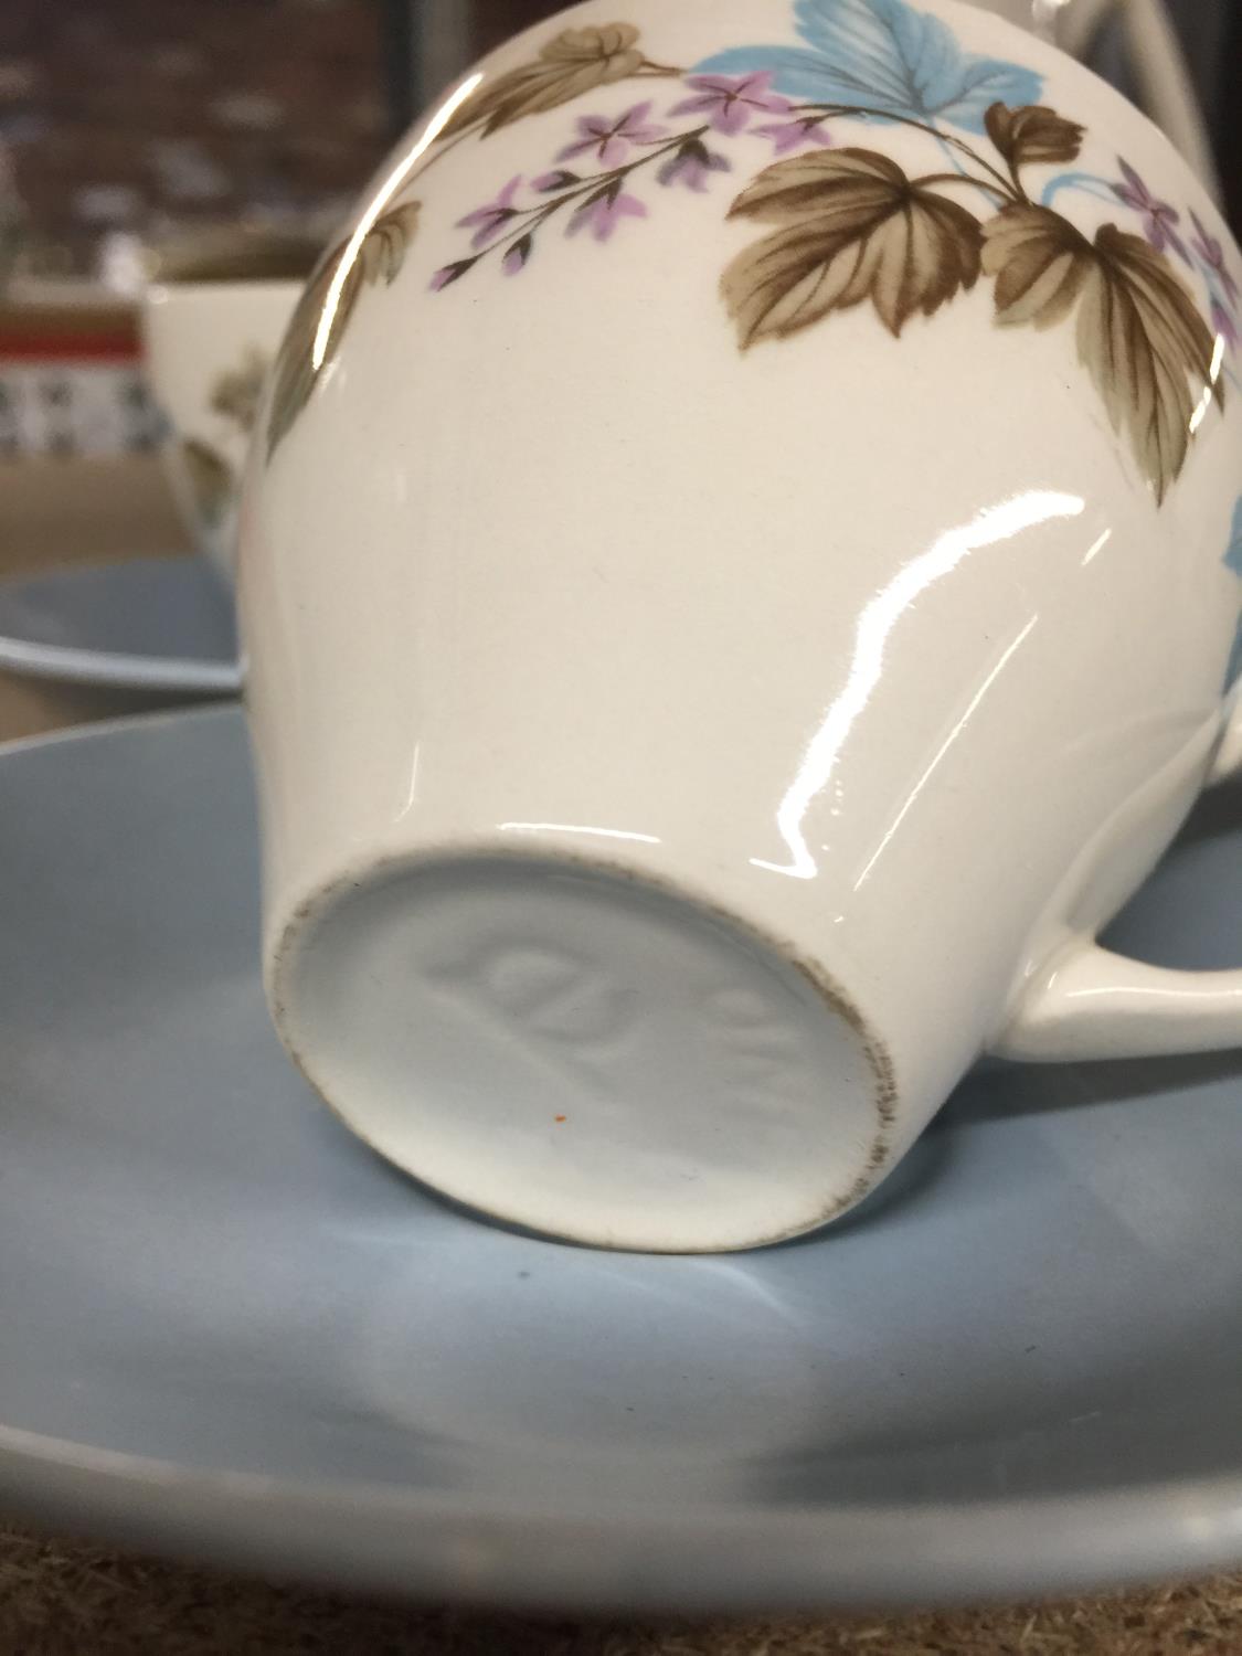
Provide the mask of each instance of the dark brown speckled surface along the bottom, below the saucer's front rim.
[{"label": "dark brown speckled surface along the bottom, below the saucer's front rim", "polygon": [[0,1527],[5,1656],[1186,1656],[1242,1651],[1242,1577],[1076,1603],[745,1621],[379,1605]]}]

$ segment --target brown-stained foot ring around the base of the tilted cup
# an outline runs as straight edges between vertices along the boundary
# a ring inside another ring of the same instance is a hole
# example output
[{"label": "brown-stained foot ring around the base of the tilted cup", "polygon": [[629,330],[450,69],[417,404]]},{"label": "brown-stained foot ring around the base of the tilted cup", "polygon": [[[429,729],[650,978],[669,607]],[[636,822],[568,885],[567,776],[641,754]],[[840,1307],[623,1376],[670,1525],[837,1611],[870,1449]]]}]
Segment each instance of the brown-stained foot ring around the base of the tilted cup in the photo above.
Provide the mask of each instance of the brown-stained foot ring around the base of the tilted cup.
[{"label": "brown-stained foot ring around the base of the tilted cup", "polygon": [[[752,924],[747,919],[734,914],[730,909],[719,903],[702,898],[692,889],[682,889],[674,881],[664,879],[659,874],[652,874],[647,869],[626,868],[619,863],[611,863],[608,858],[588,856],[581,851],[560,853],[550,856],[545,850],[528,851],[520,846],[495,846],[495,845],[475,845],[469,850],[460,848],[437,848],[419,851],[414,856],[394,854],[381,858],[373,868],[366,869],[364,874],[338,874],[335,879],[326,881],[323,886],[311,891],[308,896],[301,898],[293,909],[291,917],[285,922],[277,937],[277,944],[272,951],[272,970],[265,974],[267,979],[267,997],[272,1012],[272,1020],[277,1027],[277,1033],[285,1047],[285,1052],[293,1060],[301,1078],[311,1088],[311,1091],[328,1106],[328,1110],[336,1116],[336,1119],[351,1133],[354,1138],[361,1139],[368,1149],[379,1156],[389,1167],[397,1167],[407,1179],[422,1189],[431,1191],[434,1196],[449,1201],[450,1204],[469,1209],[472,1212],[482,1214],[484,1219],[493,1217],[487,1216],[484,1209],[474,1207],[470,1202],[462,1201],[450,1191],[442,1191],[439,1186],[432,1184],[429,1179],[422,1179],[419,1174],[411,1172],[396,1163],[386,1151],[383,1151],[366,1133],[363,1133],[356,1123],[348,1119],[344,1111],[328,1096],[325,1088],[318,1083],[310,1070],[306,1058],[296,1047],[290,1030],[286,1028],[286,1009],[283,999],[283,982],[286,974],[293,969],[300,949],[296,939],[311,919],[323,919],[331,907],[344,898],[349,891],[361,891],[363,888],[383,884],[389,879],[397,879],[406,874],[419,874],[436,868],[452,868],[464,863],[528,863],[540,864],[542,868],[551,869],[553,873],[586,873],[595,876],[603,876],[613,879],[616,884],[639,886],[646,891],[654,891],[662,898],[669,898],[682,906],[691,907],[700,917],[712,921],[717,926],[724,926],[727,931],[740,936],[752,946],[762,949],[765,954],[782,960],[785,965],[793,967],[802,979],[811,987],[815,995],[825,1002],[825,1005],[836,1013],[858,1037],[868,1063],[871,1065],[871,1075],[874,1081],[873,1105],[876,1110],[876,1131],[871,1139],[871,1146],[866,1153],[866,1166],[858,1174],[854,1182],[848,1191],[830,1202],[815,1219],[787,1227],[783,1230],[775,1230],[770,1235],[757,1237],[752,1242],[727,1244],[724,1247],[634,1247],[626,1242],[608,1242],[596,1239],[583,1239],[573,1235],[568,1230],[555,1229],[537,1229],[527,1225],[522,1220],[503,1219],[505,1225],[525,1232],[527,1235],[538,1237],[553,1242],[570,1242],[575,1247],[598,1249],[599,1252],[613,1254],[669,1254],[669,1255],[707,1255],[707,1254],[744,1254],[752,1249],[775,1247],[778,1242],[792,1242],[795,1237],[811,1235],[821,1230],[825,1225],[833,1224],[841,1219],[851,1207],[858,1206],[864,1196],[874,1191],[881,1179],[883,1169],[888,1166],[893,1154],[891,1131],[896,1124],[898,1116],[898,1081],[896,1068],[888,1047],[883,1043],[879,1035],[871,1028],[863,1012],[854,1005],[854,1002],[846,995],[841,985],[813,960],[798,954],[797,949],[788,944],[780,942],[780,939],[765,932],[760,926]],[[555,1118],[563,1119],[563,1118]]]}]

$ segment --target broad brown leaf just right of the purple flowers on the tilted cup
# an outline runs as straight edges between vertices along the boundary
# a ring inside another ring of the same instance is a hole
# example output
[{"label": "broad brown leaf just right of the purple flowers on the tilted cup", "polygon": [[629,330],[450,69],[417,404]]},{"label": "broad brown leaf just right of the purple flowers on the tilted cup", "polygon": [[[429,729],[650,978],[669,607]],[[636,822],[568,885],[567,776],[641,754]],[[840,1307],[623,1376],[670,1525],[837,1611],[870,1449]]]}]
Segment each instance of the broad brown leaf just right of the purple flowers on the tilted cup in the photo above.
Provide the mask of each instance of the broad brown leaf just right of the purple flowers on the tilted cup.
[{"label": "broad brown leaf just right of the purple flowers on the tilted cup", "polygon": [[869,298],[894,336],[979,277],[975,217],[869,149],[833,149],[767,167],[730,219],[783,229],[739,253],[720,286],[745,349]]}]

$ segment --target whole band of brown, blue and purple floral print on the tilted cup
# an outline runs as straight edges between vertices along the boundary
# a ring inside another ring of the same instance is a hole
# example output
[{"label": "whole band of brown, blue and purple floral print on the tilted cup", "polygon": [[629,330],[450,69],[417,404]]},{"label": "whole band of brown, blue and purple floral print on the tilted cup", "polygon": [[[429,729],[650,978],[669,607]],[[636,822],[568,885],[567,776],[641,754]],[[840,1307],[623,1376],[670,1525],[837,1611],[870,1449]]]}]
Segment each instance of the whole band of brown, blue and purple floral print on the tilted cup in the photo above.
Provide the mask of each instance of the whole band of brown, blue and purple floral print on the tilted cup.
[{"label": "whole band of brown, blue and purple floral print on the tilted cup", "polygon": [[[533,61],[482,83],[422,171],[457,142],[616,94],[575,114],[546,171],[510,177],[457,220],[465,245],[431,288],[454,288],[485,263],[518,277],[556,225],[601,243],[628,237],[662,194],[705,194],[735,174],[725,217],[760,232],[720,278],[744,351],[854,306],[901,338],[914,318],[931,320],[987,282],[999,326],[1075,330],[1113,429],[1163,502],[1232,378],[1224,353],[1242,326],[1222,245],[1123,157],[1113,179],[1050,176],[1078,161],[1085,129],[1038,103],[1037,73],[967,53],[907,0],[797,0],[793,17],[800,43],[740,46],[687,70],[651,60],[629,23],[563,30]],[[926,171],[907,174],[856,142],[859,128],[894,124],[922,134]],[[758,171],[755,141],[768,147]],[[1053,205],[1061,190],[1108,200],[1124,222],[1088,237]],[[282,354],[270,449],[311,394],[363,288],[399,270],[417,210],[406,202],[376,220],[315,361],[343,248],[325,262]],[[373,237],[384,240],[371,257]],[[1187,277],[1199,278],[1199,298]]]}]

